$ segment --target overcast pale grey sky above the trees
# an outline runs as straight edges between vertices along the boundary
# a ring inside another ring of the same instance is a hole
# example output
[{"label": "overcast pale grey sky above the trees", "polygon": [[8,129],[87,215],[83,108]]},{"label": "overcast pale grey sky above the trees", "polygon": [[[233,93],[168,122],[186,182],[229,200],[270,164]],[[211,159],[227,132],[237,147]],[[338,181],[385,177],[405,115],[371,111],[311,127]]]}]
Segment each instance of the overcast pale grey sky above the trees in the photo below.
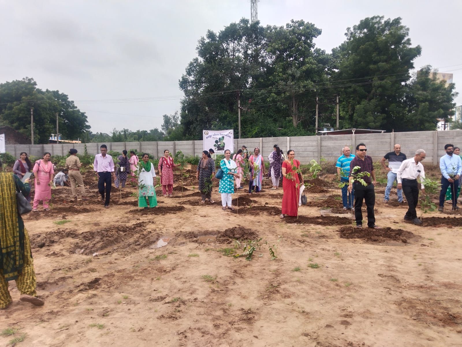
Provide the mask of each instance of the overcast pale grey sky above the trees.
[{"label": "overcast pale grey sky above the trees", "polygon": [[[107,133],[160,128],[163,114],[179,111],[178,79],[196,56],[197,40],[208,29],[250,18],[249,0],[0,0],[0,9],[0,83],[28,76],[39,88],[60,90],[87,113],[92,132]],[[456,86],[462,85],[462,45],[454,39],[460,13],[460,0],[258,3],[262,25],[316,24],[322,29],[316,45],[328,52],[365,17],[401,17],[412,44],[422,46],[415,66],[453,72]],[[121,102],[133,98],[146,99]]]}]

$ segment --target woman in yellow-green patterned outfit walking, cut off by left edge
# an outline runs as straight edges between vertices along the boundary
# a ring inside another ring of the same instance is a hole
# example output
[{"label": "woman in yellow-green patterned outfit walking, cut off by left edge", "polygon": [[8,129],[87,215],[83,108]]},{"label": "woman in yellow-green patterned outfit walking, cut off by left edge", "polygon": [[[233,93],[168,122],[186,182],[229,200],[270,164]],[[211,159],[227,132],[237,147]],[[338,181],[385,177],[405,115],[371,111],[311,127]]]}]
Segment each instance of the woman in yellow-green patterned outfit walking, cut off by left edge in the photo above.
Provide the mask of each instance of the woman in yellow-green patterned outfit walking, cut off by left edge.
[{"label": "woman in yellow-green patterned outfit walking, cut off by left edge", "polygon": [[[2,163],[0,161],[0,169]],[[13,173],[0,172],[0,309],[12,303],[8,281],[15,280],[20,300],[43,305],[38,299],[30,240],[16,207],[16,191],[29,195],[29,179],[23,183]]]}]

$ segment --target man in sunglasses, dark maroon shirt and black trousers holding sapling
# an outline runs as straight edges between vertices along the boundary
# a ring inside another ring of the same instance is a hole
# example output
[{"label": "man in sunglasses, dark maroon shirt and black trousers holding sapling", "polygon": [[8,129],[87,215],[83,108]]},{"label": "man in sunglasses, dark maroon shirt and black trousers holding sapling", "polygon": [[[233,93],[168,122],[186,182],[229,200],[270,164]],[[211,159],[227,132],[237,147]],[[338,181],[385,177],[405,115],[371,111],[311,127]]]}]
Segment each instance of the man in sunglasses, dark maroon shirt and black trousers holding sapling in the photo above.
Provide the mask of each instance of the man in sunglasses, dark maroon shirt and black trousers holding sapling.
[{"label": "man in sunglasses, dark maroon shirt and black trousers holding sapling", "polygon": [[[350,163],[350,175],[348,185],[348,191],[354,191],[354,217],[356,219],[356,227],[363,227],[363,214],[361,207],[363,206],[363,199],[366,203],[367,210],[367,226],[370,228],[378,229],[375,225],[375,191],[374,185],[376,184],[376,177],[374,171],[374,165],[372,158],[366,155],[366,145],[359,144],[356,146],[356,156]],[[358,170],[353,170],[355,167],[359,167]],[[361,172],[368,172],[369,176],[363,176],[366,185],[362,185],[358,180],[354,178],[355,175]],[[372,179],[371,179],[372,178]]]}]

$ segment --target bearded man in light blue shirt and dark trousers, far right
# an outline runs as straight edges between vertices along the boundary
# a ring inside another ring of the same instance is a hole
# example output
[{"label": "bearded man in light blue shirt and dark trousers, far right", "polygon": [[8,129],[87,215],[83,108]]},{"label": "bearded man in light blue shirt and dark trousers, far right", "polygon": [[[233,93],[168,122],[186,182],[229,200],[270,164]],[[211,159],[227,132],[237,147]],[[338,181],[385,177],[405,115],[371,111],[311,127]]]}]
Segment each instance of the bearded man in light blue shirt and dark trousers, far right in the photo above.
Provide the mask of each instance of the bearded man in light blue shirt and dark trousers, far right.
[{"label": "bearded man in light blue shirt and dark trousers, far right", "polygon": [[459,186],[459,177],[462,173],[462,161],[460,156],[453,156],[454,145],[446,144],[444,146],[446,155],[442,156],[439,160],[439,168],[441,169],[441,191],[439,193],[439,208],[438,211],[443,212],[444,196],[448,187],[452,192],[452,209],[459,209],[457,207],[457,187]]}]

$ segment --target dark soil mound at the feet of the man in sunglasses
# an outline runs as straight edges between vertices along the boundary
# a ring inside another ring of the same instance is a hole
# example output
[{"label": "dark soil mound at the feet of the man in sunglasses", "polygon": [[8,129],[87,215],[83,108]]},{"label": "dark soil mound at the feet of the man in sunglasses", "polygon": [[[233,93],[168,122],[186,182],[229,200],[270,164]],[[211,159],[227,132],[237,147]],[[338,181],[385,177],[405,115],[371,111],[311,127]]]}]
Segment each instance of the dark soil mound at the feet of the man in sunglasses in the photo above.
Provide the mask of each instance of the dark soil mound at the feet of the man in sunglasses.
[{"label": "dark soil mound at the feet of the man in sunglasses", "polygon": [[367,241],[401,241],[407,243],[417,235],[403,229],[392,229],[390,227],[372,229],[368,227],[342,227],[339,230],[342,239],[363,239]]}]

